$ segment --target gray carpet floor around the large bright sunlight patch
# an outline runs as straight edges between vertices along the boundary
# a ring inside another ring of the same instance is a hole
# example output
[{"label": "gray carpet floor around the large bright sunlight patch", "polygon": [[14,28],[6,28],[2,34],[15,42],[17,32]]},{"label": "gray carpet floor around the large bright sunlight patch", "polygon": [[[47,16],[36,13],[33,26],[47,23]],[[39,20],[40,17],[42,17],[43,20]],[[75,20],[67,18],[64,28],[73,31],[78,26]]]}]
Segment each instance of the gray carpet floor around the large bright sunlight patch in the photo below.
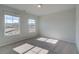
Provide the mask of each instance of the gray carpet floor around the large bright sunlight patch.
[{"label": "gray carpet floor around the large bright sunlight patch", "polygon": [[9,44],[3,47],[0,47],[0,54],[18,54],[13,51],[13,48],[22,45],[24,43],[29,43],[34,46],[38,46],[44,49],[49,50],[48,54],[77,54],[77,48],[74,43],[69,43],[65,41],[58,41],[57,44],[51,44],[43,41],[38,41],[34,39],[25,39],[13,44]]}]

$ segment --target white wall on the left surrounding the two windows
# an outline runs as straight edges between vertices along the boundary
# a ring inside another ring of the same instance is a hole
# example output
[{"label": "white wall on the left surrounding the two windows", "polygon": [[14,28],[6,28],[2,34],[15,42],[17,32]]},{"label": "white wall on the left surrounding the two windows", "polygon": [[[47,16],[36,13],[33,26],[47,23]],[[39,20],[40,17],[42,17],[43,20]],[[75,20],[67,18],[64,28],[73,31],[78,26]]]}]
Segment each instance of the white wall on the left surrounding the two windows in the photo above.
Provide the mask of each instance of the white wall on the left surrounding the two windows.
[{"label": "white wall on the left surrounding the two windows", "polygon": [[[4,35],[4,14],[20,16],[21,33],[19,35],[13,35],[13,36]],[[24,11],[19,11],[13,8],[9,8],[7,6],[0,5],[0,46],[37,36],[38,35],[38,24],[36,27],[37,31],[35,33],[28,32],[27,22],[29,18],[33,18],[36,21],[38,20],[37,16],[27,14]]]}]

